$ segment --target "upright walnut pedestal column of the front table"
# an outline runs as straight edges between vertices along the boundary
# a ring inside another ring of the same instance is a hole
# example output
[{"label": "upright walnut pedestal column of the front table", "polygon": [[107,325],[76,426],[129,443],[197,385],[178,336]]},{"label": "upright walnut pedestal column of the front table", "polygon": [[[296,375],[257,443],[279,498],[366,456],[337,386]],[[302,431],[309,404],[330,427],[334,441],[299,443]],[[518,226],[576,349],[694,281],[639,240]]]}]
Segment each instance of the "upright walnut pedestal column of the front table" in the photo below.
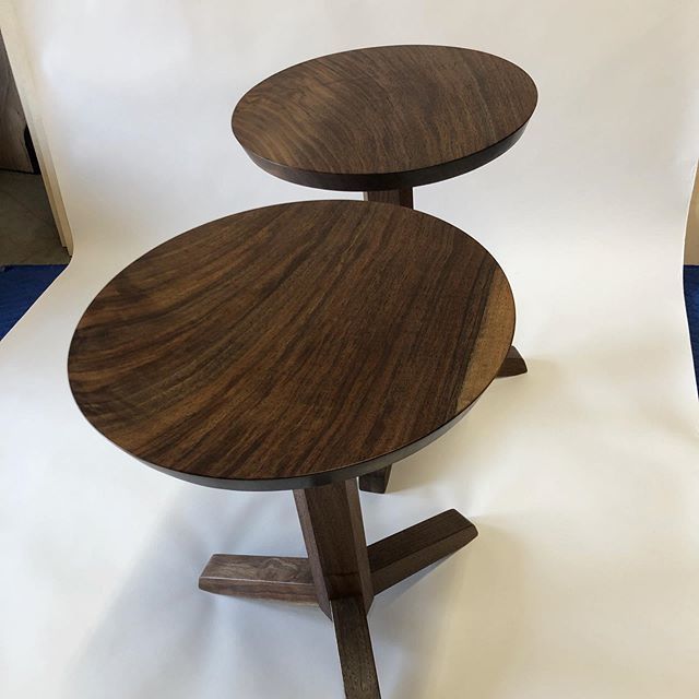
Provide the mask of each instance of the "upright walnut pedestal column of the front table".
[{"label": "upright walnut pedestal column of the front table", "polygon": [[368,609],[374,588],[357,482],[294,490],[294,499],[321,609],[330,616],[328,602],[357,595]]}]

